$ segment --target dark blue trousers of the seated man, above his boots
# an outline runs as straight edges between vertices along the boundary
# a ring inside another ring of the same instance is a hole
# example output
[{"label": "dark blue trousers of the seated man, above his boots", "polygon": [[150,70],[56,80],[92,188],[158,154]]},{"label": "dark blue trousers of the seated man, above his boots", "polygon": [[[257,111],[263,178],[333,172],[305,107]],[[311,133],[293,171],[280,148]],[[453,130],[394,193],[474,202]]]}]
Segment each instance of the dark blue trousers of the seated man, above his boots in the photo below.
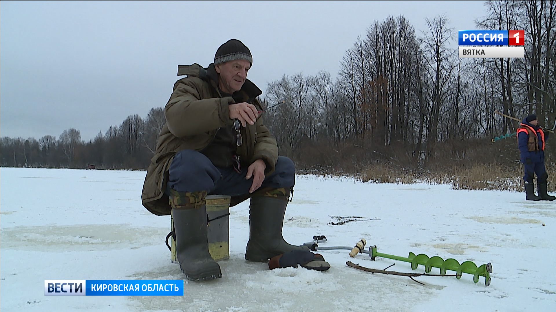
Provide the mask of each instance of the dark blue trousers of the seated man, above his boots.
[{"label": "dark blue trousers of the seated man, above his boots", "polygon": [[[205,155],[186,149],[177,153],[170,164],[168,189],[239,196],[249,194],[253,178],[246,180],[247,167],[237,173],[234,168],[217,168]],[[265,177],[261,188],[291,188],[295,184],[295,165],[287,157],[278,157],[276,170]],[[168,192],[169,193],[169,192]]]}]

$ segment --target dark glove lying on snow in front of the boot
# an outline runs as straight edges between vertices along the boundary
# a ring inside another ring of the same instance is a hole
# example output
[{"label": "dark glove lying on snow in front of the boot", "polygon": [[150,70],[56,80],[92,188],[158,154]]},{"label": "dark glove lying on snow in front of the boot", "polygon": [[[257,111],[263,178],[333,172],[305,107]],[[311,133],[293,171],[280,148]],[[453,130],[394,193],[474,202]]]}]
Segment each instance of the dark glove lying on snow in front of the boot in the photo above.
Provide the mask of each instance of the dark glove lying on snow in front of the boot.
[{"label": "dark glove lying on snow in front of the boot", "polygon": [[308,250],[292,250],[288,253],[274,256],[269,261],[269,269],[287,268],[289,266],[297,268],[301,265],[305,269],[326,271],[330,269],[330,264],[324,260],[320,254],[312,253]]}]

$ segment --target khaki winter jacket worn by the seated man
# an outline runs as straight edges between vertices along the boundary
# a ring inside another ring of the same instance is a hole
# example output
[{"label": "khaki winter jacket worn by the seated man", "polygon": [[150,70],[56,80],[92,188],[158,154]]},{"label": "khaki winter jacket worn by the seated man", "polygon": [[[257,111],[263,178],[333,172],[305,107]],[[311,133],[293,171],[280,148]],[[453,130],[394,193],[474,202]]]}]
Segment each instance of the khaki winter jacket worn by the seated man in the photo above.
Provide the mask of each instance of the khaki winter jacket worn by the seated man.
[{"label": "khaki winter jacket worn by the seated man", "polygon": [[[184,149],[200,151],[214,139],[220,127],[231,125],[229,104],[240,102],[254,104],[258,110],[262,106],[256,97],[262,92],[250,80],[232,97],[222,97],[217,88],[217,73],[214,65],[203,68],[199,64],[178,66],[178,76],[170,100],[164,108],[166,124],[161,130],[156,144],[155,155],[147,168],[147,175],[141,195],[142,204],[151,213],[168,215],[171,207],[165,195],[168,169],[174,155]],[[266,163],[265,174],[274,172],[278,159],[276,139],[262,124],[262,118],[254,125],[246,124],[241,129],[243,143],[237,148],[237,155],[247,165],[257,159]]]}]

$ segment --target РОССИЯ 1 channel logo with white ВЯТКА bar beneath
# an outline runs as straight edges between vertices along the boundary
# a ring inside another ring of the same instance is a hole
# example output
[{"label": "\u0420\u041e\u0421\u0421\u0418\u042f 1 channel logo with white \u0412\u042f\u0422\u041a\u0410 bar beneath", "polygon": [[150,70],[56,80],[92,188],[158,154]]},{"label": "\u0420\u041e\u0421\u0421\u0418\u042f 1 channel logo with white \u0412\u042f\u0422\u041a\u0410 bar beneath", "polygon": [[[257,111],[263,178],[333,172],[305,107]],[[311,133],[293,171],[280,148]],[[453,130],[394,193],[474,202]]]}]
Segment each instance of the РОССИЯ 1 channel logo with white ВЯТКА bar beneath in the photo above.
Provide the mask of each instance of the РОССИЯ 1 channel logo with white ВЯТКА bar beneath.
[{"label": "\u0420\u041e\u0421\u0421\u0418\u042f 1 channel logo with white \u0412\u042f\u0422\u041a\u0410 bar beneath", "polygon": [[523,58],[525,31],[459,31],[460,58]]}]

